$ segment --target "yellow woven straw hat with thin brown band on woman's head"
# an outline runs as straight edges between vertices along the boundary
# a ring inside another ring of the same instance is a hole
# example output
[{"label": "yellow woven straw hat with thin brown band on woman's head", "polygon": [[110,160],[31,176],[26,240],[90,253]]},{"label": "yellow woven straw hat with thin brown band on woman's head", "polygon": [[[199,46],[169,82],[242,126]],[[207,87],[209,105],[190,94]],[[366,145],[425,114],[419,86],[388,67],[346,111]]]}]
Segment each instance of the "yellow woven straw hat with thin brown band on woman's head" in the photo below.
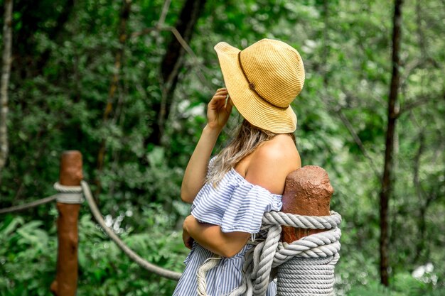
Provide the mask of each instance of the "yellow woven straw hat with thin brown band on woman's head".
[{"label": "yellow woven straw hat with thin brown band on woman's head", "polygon": [[304,66],[294,48],[262,39],[244,50],[215,45],[225,87],[250,124],[273,133],[291,133],[296,115],[290,104],[304,84]]}]

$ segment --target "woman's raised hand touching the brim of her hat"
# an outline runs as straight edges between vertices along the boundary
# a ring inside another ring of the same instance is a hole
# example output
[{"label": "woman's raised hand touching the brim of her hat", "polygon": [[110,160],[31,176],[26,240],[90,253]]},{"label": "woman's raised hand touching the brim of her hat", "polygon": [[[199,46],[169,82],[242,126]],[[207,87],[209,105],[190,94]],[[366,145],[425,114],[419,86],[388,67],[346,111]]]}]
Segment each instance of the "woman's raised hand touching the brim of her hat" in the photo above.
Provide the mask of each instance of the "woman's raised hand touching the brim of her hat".
[{"label": "woman's raised hand touching the brim of her hat", "polygon": [[228,94],[227,89],[218,89],[208,103],[207,125],[210,128],[218,128],[221,130],[227,123],[233,106],[230,97],[226,102]]}]

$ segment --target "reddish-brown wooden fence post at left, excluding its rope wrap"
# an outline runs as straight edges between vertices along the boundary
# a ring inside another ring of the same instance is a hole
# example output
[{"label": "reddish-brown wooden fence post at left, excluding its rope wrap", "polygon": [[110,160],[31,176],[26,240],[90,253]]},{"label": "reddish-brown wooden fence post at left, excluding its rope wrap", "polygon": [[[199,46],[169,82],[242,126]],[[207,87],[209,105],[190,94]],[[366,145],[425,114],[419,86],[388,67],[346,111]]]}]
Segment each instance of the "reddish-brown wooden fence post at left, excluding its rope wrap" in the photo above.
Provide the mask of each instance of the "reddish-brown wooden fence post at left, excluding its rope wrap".
[{"label": "reddish-brown wooden fence post at left, excluding its rope wrap", "polygon": [[[80,186],[82,154],[77,150],[65,151],[60,158],[60,185]],[[57,202],[59,212],[57,274],[50,290],[56,296],[75,296],[77,290],[77,218],[80,204]]]}]

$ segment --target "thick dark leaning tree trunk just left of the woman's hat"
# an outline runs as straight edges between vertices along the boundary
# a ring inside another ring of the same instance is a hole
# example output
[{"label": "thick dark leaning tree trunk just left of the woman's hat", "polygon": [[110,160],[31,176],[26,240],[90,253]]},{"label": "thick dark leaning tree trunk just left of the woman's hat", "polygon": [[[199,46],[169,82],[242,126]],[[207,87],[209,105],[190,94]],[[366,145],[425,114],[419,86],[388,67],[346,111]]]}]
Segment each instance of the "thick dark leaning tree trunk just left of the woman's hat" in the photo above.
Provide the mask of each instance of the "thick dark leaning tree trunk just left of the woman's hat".
[{"label": "thick dark leaning tree trunk just left of the woman's hat", "polygon": [[[186,43],[190,43],[196,22],[205,6],[205,1],[206,0],[187,0],[183,6],[175,28]],[[153,143],[154,145],[161,145],[165,121],[168,118],[168,114],[170,114],[173,93],[178,83],[179,70],[183,65],[183,55],[186,52],[174,36],[172,36],[166,48],[167,52],[161,62],[161,78],[163,84],[161,89],[161,102],[156,102],[153,106],[156,114],[158,114],[158,118],[154,123],[153,132],[145,144]]]}]

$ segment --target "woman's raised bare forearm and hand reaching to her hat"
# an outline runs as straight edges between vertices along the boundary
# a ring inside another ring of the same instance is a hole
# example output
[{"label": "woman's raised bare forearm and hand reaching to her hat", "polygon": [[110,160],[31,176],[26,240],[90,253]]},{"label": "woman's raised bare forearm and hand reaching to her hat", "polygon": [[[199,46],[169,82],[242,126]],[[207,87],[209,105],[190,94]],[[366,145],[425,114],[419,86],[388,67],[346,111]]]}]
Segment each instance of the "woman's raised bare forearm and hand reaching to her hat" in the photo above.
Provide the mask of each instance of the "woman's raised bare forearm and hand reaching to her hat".
[{"label": "woman's raised bare forearm and hand reaching to her hat", "polygon": [[208,160],[212,154],[216,140],[223,130],[232,111],[232,101],[225,101],[227,89],[218,89],[210,100],[207,109],[207,125],[203,129],[198,144],[188,161],[181,185],[181,199],[192,203],[196,194],[204,185],[207,175]]}]

